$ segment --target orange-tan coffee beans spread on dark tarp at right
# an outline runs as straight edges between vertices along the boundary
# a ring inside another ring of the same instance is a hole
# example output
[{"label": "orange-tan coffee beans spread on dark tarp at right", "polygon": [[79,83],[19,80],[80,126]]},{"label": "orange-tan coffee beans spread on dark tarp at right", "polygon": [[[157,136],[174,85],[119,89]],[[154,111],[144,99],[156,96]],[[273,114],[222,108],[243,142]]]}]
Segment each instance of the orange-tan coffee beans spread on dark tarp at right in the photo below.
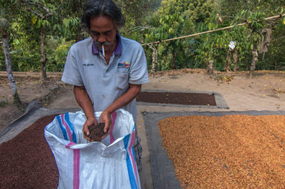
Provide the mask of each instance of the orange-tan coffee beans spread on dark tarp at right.
[{"label": "orange-tan coffee beans spread on dark tarp at right", "polygon": [[158,126],[184,188],[285,188],[285,116],[169,117]]}]

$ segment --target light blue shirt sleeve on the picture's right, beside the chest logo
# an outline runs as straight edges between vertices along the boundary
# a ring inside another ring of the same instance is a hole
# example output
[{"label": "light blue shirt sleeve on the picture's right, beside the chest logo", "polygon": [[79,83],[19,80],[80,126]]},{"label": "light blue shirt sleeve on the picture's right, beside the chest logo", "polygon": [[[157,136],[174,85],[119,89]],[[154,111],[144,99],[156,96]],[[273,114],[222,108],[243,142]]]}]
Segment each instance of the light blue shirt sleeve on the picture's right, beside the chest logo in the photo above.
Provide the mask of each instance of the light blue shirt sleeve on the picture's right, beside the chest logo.
[{"label": "light blue shirt sleeve on the picture's right, beside the chest logo", "polygon": [[147,72],[147,60],[145,58],[145,50],[139,46],[138,55],[135,56],[133,65],[131,65],[129,83],[140,85],[149,82]]}]

